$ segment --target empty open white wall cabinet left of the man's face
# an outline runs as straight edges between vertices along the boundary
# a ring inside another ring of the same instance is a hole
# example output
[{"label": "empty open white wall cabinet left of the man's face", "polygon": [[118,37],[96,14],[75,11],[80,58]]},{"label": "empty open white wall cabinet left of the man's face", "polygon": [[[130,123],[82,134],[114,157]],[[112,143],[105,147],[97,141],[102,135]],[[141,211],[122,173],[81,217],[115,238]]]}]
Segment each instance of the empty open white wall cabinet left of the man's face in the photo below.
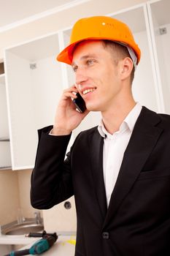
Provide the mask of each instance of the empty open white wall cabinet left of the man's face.
[{"label": "empty open white wall cabinet left of the man's face", "polygon": [[32,168],[36,130],[53,124],[63,90],[61,66],[55,61],[58,34],[5,51],[12,145],[12,169]]}]

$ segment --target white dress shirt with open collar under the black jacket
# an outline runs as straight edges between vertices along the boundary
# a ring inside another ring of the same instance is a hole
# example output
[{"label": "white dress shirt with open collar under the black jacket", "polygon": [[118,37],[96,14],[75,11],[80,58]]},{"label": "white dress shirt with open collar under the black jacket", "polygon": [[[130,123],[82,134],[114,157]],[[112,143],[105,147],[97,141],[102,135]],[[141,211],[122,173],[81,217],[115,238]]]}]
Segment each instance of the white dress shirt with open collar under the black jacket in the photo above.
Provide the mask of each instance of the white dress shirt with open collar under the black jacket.
[{"label": "white dress shirt with open collar under the black jacket", "polygon": [[120,129],[113,135],[107,132],[102,121],[98,125],[98,132],[104,137],[103,170],[107,207],[109,206],[109,200],[123,161],[125,148],[128,146],[134,125],[141,110],[142,105],[137,102],[131,112],[128,113],[128,116],[123,120]]}]

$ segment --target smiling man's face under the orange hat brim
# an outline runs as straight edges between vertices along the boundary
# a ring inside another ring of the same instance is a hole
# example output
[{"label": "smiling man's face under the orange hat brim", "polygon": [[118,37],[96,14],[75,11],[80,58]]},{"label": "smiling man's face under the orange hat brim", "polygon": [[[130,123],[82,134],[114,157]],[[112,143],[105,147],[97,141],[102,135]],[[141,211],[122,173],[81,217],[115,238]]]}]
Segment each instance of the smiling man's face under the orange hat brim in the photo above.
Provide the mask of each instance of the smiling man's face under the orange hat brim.
[{"label": "smiling man's face under the orange hat brim", "polygon": [[74,50],[72,68],[77,89],[91,111],[105,112],[118,100],[121,84],[119,64],[100,40],[81,42]]}]

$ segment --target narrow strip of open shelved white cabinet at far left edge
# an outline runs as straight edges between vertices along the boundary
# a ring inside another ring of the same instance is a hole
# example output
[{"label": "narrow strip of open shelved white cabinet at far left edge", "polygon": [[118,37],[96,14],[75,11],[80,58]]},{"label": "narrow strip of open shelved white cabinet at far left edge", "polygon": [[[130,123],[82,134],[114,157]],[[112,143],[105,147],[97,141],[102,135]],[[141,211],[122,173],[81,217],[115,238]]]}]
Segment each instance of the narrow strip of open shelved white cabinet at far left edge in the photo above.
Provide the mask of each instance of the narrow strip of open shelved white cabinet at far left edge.
[{"label": "narrow strip of open shelved white cabinet at far left edge", "polygon": [[11,154],[9,147],[9,128],[7,119],[7,100],[5,76],[1,64],[0,74],[0,170],[11,168]]}]

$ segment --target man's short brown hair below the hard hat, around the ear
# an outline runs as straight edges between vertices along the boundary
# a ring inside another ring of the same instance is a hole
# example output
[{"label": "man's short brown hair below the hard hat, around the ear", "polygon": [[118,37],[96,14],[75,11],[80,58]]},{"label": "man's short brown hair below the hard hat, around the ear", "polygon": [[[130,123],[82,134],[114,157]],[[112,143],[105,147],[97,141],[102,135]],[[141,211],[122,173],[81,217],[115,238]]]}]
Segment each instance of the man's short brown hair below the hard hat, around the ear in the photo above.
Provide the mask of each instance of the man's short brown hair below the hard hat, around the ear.
[{"label": "man's short brown hair below the hard hat, around the ear", "polygon": [[[107,39],[102,40],[102,42],[104,43],[103,44],[104,48],[110,48],[112,50],[112,52],[114,53],[114,62],[116,65],[118,64],[118,61],[120,61],[120,59],[125,59],[126,57],[131,58],[131,56],[128,52],[128,48],[126,48],[124,45],[120,45],[117,42],[107,40]],[[134,80],[134,72],[135,72],[135,67],[133,67],[133,69],[131,70],[131,77],[130,77],[131,83]]]}]

